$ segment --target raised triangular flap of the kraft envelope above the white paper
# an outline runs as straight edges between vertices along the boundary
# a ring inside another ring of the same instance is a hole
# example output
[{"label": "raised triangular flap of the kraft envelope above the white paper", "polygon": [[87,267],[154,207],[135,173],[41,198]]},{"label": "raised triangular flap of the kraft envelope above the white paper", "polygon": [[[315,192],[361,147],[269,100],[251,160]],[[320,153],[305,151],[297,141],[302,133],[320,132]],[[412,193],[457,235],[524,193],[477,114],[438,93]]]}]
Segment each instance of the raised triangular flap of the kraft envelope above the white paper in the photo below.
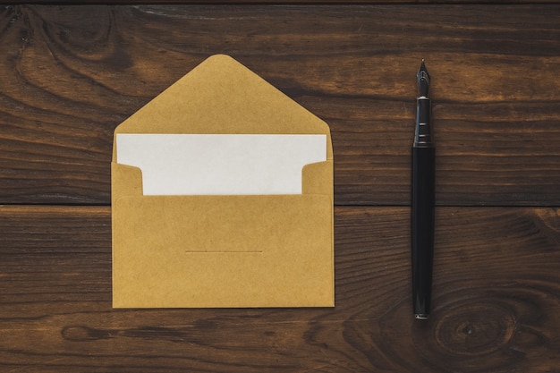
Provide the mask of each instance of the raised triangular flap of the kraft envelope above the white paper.
[{"label": "raised triangular flap of the kraft envelope above the white paper", "polygon": [[327,123],[227,55],[210,56],[121,123],[117,133],[326,134],[332,159]]}]

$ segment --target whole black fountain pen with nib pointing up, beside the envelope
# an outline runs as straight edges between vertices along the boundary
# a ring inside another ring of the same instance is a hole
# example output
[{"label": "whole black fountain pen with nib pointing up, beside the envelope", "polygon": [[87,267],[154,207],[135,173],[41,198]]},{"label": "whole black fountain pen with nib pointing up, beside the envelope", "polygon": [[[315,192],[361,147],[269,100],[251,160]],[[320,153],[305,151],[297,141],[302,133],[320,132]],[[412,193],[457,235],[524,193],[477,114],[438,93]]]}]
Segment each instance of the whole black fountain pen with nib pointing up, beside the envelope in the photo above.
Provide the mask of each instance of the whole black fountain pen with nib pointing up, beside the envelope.
[{"label": "whole black fountain pen with nib pointing up, beside the envelope", "polygon": [[420,64],[416,100],[416,134],[412,146],[412,301],[414,316],[429,316],[434,258],[436,148],[431,135],[429,74]]}]

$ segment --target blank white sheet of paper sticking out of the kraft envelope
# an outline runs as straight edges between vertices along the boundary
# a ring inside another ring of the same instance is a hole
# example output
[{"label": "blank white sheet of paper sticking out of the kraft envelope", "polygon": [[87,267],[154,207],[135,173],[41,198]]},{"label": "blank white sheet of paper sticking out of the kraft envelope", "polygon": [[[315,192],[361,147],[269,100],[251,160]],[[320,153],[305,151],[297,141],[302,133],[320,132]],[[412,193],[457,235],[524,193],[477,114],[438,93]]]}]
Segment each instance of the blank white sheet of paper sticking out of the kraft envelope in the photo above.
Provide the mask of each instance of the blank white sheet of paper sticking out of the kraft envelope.
[{"label": "blank white sheet of paper sticking out of the kraft envelope", "polygon": [[140,167],[145,195],[301,194],[327,136],[117,133],[116,159]]}]

